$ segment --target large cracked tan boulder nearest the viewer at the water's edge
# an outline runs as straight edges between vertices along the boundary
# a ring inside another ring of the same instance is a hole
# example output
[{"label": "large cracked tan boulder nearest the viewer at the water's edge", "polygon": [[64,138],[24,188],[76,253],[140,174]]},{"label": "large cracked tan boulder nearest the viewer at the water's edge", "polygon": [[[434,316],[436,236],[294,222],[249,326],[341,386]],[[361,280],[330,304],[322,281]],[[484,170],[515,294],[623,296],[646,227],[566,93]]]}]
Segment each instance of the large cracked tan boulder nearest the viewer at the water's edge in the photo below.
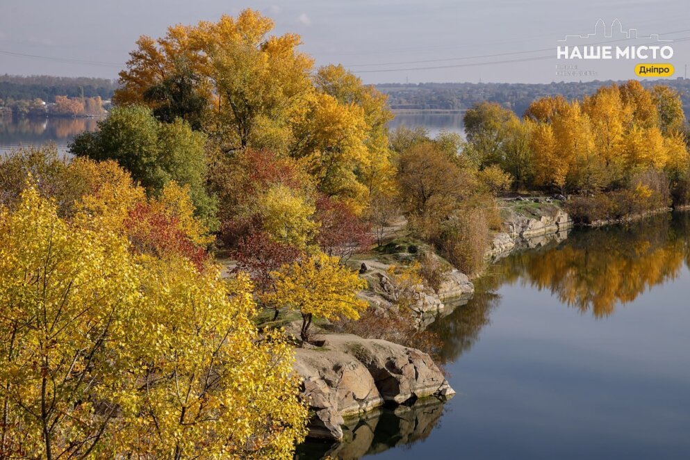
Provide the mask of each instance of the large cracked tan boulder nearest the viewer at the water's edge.
[{"label": "large cracked tan boulder nearest the viewer at the water's edge", "polygon": [[313,416],[309,436],[343,437],[343,416],[384,402],[402,404],[454,391],[428,354],[386,340],[350,334],[315,336],[322,347],[295,350],[295,370],[304,377],[302,397]]}]

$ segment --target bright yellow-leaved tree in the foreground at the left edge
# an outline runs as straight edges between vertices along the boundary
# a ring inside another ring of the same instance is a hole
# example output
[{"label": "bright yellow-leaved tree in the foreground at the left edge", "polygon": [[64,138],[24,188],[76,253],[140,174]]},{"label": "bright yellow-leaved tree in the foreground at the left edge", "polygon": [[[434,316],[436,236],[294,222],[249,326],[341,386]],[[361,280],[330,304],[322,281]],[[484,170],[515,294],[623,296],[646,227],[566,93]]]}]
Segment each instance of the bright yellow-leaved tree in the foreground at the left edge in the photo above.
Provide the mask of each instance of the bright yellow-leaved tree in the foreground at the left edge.
[{"label": "bright yellow-leaved tree in the foreground at the left edge", "polygon": [[3,458],[95,454],[129,386],[111,354],[138,289],[124,239],[27,188],[0,210],[0,272]]}]

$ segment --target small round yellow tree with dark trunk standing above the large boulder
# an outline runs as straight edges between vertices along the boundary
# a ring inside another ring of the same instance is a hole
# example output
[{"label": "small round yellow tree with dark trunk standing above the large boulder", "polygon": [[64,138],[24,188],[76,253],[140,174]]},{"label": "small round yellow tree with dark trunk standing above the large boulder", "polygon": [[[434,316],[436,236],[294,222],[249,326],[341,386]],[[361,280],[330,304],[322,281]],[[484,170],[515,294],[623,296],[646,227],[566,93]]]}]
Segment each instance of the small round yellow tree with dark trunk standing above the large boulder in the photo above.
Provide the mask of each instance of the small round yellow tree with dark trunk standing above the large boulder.
[{"label": "small round yellow tree with dark trunk standing above the large boulder", "polygon": [[309,340],[309,327],[314,315],[326,320],[356,320],[368,307],[358,299],[358,290],[366,281],[357,272],[340,265],[338,257],[319,253],[302,261],[285,265],[274,272],[274,302],[302,313],[302,340]]}]

